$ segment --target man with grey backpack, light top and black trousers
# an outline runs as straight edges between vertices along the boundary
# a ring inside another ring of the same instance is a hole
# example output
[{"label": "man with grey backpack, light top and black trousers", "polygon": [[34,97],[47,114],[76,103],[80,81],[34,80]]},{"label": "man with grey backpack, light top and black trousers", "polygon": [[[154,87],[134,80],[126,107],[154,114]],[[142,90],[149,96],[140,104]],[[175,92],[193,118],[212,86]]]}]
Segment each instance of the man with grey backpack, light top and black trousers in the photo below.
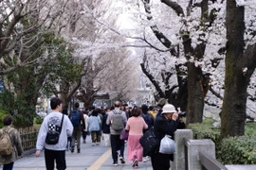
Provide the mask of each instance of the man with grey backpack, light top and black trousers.
[{"label": "man with grey backpack, light top and black trousers", "polygon": [[[123,164],[125,163],[123,152],[124,152],[124,141],[120,140],[120,134],[121,131],[124,129],[127,118],[125,115],[125,112],[120,110],[120,102],[116,101],[114,103],[114,110],[111,110],[108,113],[108,117],[106,120],[106,125],[110,126],[110,144],[111,144],[111,150],[112,150],[112,159],[113,159],[113,165],[117,166],[118,163],[118,157],[119,161]],[[120,153],[118,153],[118,150],[120,150]]]}]

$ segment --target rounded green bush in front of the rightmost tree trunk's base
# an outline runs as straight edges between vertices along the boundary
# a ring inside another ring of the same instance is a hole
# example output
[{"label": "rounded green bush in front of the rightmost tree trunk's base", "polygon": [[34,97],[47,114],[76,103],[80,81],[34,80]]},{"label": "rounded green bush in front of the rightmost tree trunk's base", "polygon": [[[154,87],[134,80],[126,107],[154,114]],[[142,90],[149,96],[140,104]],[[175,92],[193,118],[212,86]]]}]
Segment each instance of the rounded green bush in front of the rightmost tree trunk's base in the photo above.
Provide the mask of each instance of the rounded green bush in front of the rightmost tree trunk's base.
[{"label": "rounded green bush in front of the rightmost tree trunk's base", "polygon": [[256,136],[236,136],[224,139],[217,152],[224,164],[255,164]]}]

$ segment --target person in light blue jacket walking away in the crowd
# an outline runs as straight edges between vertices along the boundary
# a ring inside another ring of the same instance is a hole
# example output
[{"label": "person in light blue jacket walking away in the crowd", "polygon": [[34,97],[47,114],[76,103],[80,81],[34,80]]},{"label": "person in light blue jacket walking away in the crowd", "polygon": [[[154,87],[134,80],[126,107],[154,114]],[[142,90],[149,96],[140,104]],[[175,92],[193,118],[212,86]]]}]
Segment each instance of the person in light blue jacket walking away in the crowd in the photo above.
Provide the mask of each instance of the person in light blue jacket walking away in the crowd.
[{"label": "person in light blue jacket walking away in the crowd", "polygon": [[89,132],[91,133],[92,146],[99,145],[98,136],[101,130],[101,118],[98,115],[98,110],[93,110],[88,120]]}]

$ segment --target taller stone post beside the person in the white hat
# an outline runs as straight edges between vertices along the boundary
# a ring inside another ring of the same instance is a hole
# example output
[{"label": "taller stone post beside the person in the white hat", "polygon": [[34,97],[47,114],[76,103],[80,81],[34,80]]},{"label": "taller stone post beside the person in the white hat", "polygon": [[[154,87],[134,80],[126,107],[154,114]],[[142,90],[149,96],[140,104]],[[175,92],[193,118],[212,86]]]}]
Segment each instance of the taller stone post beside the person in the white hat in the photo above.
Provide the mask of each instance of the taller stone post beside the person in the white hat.
[{"label": "taller stone post beside the person in the white hat", "polygon": [[185,143],[184,139],[192,139],[192,129],[177,129],[174,133],[176,151],[174,161],[171,162],[171,170],[185,170]]}]

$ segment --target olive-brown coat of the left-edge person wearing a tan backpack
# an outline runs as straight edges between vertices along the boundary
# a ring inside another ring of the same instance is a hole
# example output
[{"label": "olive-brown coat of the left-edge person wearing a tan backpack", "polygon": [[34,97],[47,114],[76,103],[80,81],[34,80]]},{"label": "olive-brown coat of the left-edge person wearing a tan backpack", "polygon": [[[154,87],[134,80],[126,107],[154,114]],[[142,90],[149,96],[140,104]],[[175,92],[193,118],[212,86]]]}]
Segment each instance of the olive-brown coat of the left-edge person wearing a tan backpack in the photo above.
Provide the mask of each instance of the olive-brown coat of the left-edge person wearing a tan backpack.
[{"label": "olive-brown coat of the left-edge person wearing a tan backpack", "polygon": [[[3,127],[4,130],[9,130],[9,126],[5,126]],[[1,136],[2,134],[0,134]],[[8,164],[12,161],[16,161],[18,159],[19,156],[22,155],[23,153],[23,147],[22,147],[22,142],[21,142],[21,137],[20,137],[20,133],[18,130],[16,130],[14,128],[14,130],[12,130],[10,133],[10,140],[13,144],[13,151],[10,155],[7,156],[1,156],[0,155],[0,162],[2,164]]]}]

